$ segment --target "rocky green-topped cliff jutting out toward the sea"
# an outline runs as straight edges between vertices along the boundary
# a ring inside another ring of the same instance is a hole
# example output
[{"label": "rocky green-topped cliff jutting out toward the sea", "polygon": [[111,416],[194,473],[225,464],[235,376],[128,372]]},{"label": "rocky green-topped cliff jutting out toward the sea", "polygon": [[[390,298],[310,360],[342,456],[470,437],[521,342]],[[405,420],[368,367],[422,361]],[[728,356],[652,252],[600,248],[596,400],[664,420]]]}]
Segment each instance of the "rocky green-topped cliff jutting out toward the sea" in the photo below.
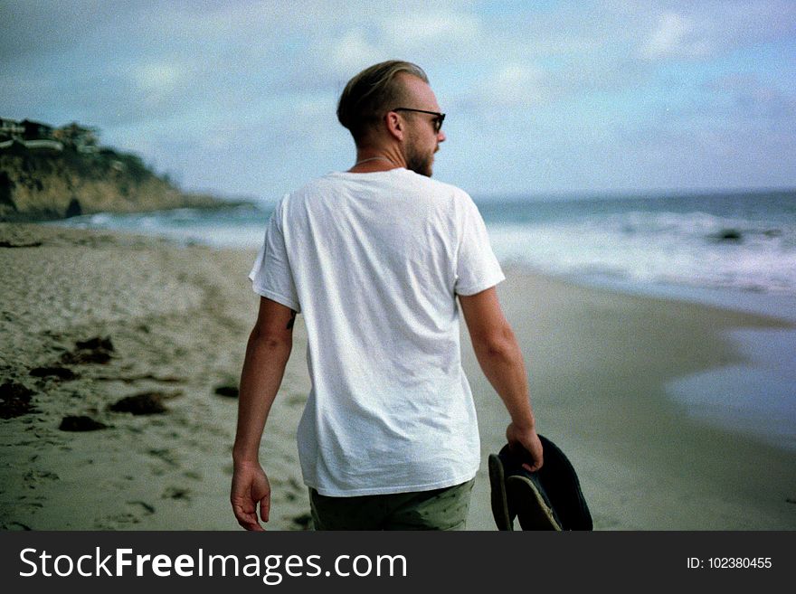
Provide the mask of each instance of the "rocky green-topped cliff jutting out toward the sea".
[{"label": "rocky green-topped cliff jutting out toward the sea", "polygon": [[57,132],[50,138],[13,137],[0,143],[0,221],[223,204],[212,196],[182,192],[139,156],[96,146],[96,137],[79,144]]}]

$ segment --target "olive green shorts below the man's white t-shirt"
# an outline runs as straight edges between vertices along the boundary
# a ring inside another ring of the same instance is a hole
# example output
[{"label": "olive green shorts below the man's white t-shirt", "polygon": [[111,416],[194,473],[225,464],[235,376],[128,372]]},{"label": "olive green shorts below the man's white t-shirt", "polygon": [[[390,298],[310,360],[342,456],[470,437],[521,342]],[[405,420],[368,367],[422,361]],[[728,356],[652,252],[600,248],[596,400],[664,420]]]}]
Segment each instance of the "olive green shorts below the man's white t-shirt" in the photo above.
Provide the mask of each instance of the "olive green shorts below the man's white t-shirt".
[{"label": "olive green shorts below the man's white t-shirt", "polygon": [[316,530],[464,530],[475,479],[432,491],[327,497],[309,489]]}]

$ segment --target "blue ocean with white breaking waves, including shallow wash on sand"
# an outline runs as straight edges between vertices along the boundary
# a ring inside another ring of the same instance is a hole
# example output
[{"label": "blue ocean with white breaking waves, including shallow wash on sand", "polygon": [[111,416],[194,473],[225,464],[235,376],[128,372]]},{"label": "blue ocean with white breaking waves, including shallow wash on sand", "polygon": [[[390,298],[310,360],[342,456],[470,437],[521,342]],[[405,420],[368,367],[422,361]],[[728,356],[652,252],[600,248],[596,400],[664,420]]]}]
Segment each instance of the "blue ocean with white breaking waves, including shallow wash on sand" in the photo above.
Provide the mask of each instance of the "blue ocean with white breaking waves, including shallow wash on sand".
[{"label": "blue ocean with white breaking waves, including shallow wash on sand", "polygon": [[[474,198],[507,268],[796,323],[796,191]],[[55,224],[253,249],[272,210],[100,213]],[[730,338],[749,365],[679,378],[668,394],[699,420],[796,449],[796,331]]]}]

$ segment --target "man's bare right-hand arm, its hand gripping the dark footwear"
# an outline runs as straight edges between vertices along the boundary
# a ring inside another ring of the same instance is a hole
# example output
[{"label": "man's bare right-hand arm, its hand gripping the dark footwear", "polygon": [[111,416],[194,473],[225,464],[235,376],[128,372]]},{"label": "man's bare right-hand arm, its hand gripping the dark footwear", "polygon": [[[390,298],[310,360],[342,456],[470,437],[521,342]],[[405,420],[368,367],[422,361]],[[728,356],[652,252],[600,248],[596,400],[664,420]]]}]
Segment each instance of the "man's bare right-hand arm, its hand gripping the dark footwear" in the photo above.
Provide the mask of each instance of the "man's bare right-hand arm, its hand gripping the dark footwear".
[{"label": "man's bare right-hand arm, its hand gripping the dark footwear", "polygon": [[488,288],[475,295],[460,296],[459,301],[481,370],[511,417],[506,429],[508,443],[513,448],[525,448],[531,457],[527,469],[538,470],[543,464],[542,444],[536,435],[526,365],[503,315],[498,292],[494,287]]}]

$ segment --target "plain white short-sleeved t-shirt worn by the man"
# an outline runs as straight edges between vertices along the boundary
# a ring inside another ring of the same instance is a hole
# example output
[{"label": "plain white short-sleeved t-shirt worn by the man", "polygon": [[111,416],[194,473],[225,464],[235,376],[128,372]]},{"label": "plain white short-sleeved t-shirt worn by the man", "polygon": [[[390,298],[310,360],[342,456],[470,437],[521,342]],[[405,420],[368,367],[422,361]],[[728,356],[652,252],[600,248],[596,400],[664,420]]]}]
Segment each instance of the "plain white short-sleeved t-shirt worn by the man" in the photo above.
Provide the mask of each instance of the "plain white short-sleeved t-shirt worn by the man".
[{"label": "plain white short-sleeved t-shirt worn by the man", "polygon": [[281,200],[249,278],[305,318],[307,486],[380,495],[475,476],[455,296],[505,277],[467,193],[403,168],[327,174]]}]

